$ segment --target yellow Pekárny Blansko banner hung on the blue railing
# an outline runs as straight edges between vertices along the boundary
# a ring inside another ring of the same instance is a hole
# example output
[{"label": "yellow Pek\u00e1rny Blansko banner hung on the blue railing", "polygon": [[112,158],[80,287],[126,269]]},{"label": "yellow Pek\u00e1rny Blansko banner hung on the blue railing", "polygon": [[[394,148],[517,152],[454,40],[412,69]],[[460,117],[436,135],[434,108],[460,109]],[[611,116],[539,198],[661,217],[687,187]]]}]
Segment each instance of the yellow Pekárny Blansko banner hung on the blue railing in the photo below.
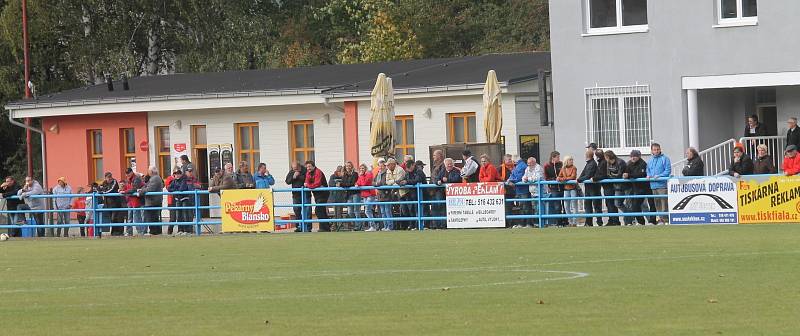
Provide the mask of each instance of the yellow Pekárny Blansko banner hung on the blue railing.
[{"label": "yellow Pek\u00e1rny Blansko banner hung on the blue railing", "polygon": [[222,232],[275,231],[272,190],[224,190],[220,203]]}]

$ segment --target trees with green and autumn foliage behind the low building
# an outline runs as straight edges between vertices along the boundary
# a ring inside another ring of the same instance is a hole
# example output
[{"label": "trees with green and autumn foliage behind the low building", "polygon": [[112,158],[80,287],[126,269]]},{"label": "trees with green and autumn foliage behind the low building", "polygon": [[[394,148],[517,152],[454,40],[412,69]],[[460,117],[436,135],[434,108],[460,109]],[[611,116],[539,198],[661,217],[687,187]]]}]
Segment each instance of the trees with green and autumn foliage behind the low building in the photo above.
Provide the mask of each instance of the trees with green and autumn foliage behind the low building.
[{"label": "trees with green and autumn foliage behind the low building", "polygon": [[[24,92],[20,1],[0,0],[0,105]],[[115,79],[549,49],[546,0],[28,0],[39,95]],[[37,167],[38,135],[33,154]],[[0,118],[0,175],[25,171]],[[41,171],[41,169],[37,169]]]}]

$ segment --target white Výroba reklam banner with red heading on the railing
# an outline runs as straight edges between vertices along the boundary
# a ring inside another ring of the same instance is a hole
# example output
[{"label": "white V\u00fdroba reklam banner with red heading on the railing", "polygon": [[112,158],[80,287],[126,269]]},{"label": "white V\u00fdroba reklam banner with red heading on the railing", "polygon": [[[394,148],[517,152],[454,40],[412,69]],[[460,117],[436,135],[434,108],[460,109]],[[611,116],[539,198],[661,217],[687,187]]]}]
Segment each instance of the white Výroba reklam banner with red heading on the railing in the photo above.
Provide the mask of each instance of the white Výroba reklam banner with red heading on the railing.
[{"label": "white V\u00fdroba reklam banner with red heading on the railing", "polygon": [[447,228],[506,226],[505,186],[496,183],[447,185]]}]

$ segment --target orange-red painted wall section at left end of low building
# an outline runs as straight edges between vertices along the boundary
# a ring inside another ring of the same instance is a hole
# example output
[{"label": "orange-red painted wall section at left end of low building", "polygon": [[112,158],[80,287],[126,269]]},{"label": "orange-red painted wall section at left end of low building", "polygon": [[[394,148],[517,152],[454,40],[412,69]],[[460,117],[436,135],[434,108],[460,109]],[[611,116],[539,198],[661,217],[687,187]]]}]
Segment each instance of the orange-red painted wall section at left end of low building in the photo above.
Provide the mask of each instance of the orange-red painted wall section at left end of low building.
[{"label": "orange-red painted wall section at left end of low building", "polygon": [[[119,179],[127,167],[122,165],[120,130],[133,128],[136,137],[137,171],[144,173],[149,166],[148,152],[139,144],[147,141],[147,113],[115,113],[46,117],[42,120],[46,134],[47,187],[52,188],[56,180],[64,176],[73,190],[86,186],[89,181],[88,130],[103,131],[103,170]],[[58,125],[58,133],[50,131]]]}]

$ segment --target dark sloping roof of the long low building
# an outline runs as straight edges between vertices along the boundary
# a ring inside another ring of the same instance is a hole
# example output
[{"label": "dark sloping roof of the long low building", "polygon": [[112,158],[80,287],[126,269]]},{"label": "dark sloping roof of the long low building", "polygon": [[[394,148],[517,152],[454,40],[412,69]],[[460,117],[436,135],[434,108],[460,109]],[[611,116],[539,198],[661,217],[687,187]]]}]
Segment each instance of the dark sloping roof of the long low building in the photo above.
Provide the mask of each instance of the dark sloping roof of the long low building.
[{"label": "dark sloping roof of the long low building", "polygon": [[17,101],[9,106],[36,103],[107,100],[170,95],[230,92],[311,90],[322,92],[370,91],[381,72],[392,77],[395,89],[483,83],[494,69],[500,82],[534,79],[538,69],[550,69],[549,52],[487,54],[457,58],[383,63],[338,64],[286,69],[187,73],[129,79],[130,90],[114,81]]}]

